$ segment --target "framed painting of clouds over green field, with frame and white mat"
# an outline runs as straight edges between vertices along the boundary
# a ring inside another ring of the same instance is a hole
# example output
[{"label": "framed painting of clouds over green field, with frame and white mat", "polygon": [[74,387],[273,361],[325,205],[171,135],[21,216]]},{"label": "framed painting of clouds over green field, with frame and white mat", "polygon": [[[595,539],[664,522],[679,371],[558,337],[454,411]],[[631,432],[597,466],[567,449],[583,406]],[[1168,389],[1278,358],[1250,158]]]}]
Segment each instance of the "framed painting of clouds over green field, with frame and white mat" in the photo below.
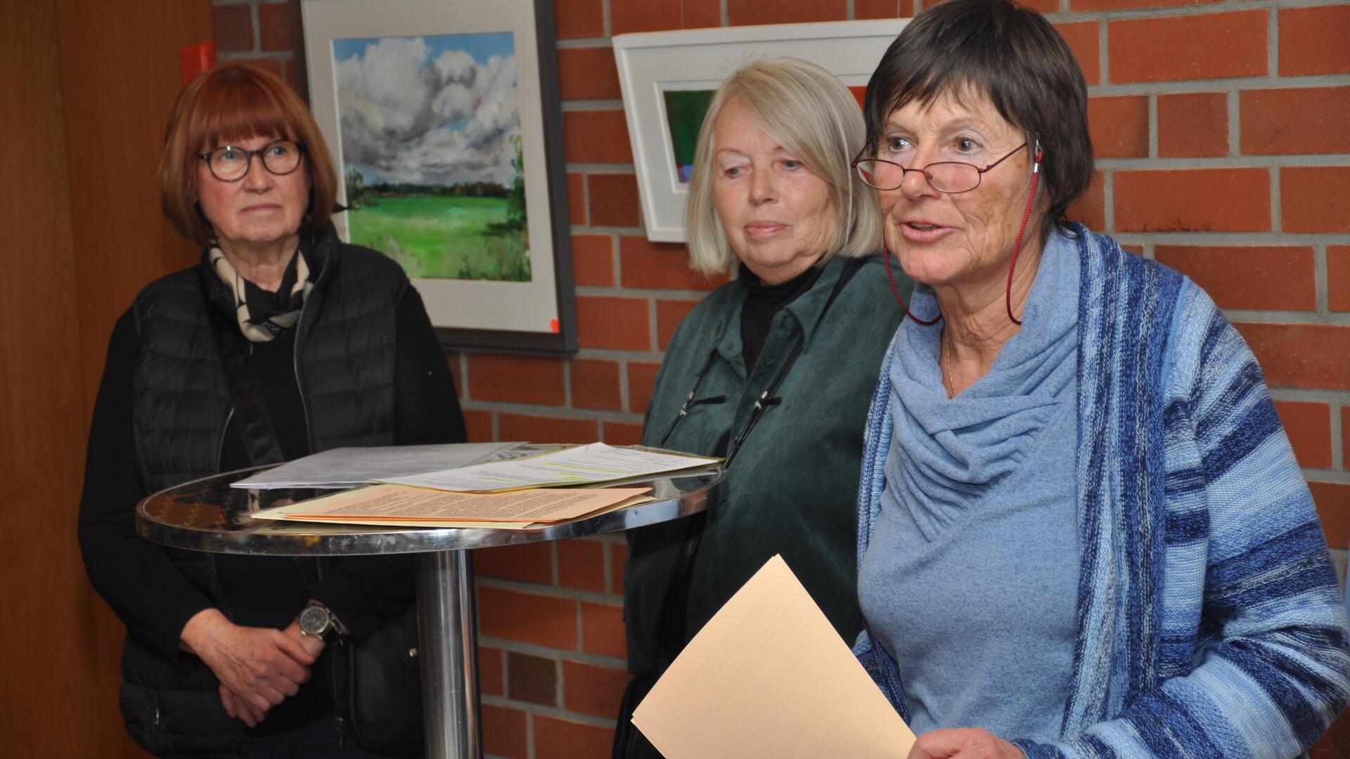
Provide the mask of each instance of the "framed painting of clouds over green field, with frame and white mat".
[{"label": "framed painting of clouds over green field, with frame and white mat", "polygon": [[302,0],[344,240],[397,261],[447,347],[576,350],[551,0]]}]

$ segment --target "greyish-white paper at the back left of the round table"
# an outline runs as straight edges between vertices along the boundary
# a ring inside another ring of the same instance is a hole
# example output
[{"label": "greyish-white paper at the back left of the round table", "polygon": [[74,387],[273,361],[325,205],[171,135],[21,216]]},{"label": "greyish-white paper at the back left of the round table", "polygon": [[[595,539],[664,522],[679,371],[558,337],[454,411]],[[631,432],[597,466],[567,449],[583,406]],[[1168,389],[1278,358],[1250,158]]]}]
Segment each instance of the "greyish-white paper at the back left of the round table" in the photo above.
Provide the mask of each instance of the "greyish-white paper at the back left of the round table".
[{"label": "greyish-white paper at the back left of the round table", "polygon": [[382,446],[333,448],[234,482],[232,488],[346,489],[379,479],[468,466],[520,443],[448,443],[436,446]]}]

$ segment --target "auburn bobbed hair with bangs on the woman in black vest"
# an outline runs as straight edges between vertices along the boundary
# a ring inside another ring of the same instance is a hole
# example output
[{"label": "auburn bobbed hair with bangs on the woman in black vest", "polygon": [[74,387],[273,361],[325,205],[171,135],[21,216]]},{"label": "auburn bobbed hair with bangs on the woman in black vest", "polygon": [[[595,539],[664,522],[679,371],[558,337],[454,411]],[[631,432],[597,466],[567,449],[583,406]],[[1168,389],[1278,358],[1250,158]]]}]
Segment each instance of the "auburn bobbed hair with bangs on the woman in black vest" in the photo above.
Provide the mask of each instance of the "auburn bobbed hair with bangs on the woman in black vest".
[{"label": "auburn bobbed hair with bangs on the woman in black vest", "polygon": [[[223,63],[201,72],[174,100],[159,158],[159,204],[178,234],[197,244],[212,239],[211,224],[197,205],[197,165],[201,154],[255,136],[275,136],[301,145],[309,174],[309,208],[301,235],[328,226],[338,199],[328,143],[309,108],[286,82],[243,63]],[[265,170],[259,166],[259,170]]]}]

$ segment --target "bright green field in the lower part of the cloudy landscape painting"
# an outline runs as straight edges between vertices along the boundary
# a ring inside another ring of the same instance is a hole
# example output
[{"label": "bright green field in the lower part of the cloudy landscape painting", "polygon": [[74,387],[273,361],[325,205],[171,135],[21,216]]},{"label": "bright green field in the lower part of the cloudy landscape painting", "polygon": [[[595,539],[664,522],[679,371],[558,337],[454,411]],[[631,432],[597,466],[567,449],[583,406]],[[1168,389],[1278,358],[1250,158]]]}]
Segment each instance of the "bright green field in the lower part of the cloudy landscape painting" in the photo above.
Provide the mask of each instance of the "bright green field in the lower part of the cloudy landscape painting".
[{"label": "bright green field in the lower part of the cloudy landscape painting", "polygon": [[350,211],[351,242],[402,265],[409,277],[528,282],[529,239],[506,220],[504,197],[378,197]]}]

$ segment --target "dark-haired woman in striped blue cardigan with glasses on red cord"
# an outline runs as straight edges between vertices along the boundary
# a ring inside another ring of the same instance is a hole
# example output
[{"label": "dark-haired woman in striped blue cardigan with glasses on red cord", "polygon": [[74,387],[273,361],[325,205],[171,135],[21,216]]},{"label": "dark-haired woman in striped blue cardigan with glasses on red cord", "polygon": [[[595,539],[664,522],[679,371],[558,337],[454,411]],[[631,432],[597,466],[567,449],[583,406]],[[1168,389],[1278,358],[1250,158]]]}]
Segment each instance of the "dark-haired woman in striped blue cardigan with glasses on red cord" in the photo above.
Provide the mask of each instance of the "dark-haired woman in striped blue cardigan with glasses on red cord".
[{"label": "dark-haired woman in striped blue cardigan with glasses on red cord", "polygon": [[1350,698],[1318,515],[1214,301],[1064,220],[1092,176],[1068,46],[948,0],[864,111],[919,284],[868,416],[856,654],[910,758],[1303,754]]}]

